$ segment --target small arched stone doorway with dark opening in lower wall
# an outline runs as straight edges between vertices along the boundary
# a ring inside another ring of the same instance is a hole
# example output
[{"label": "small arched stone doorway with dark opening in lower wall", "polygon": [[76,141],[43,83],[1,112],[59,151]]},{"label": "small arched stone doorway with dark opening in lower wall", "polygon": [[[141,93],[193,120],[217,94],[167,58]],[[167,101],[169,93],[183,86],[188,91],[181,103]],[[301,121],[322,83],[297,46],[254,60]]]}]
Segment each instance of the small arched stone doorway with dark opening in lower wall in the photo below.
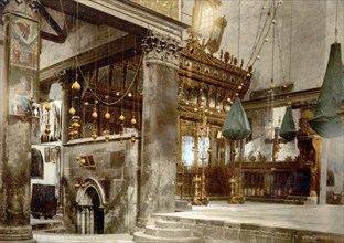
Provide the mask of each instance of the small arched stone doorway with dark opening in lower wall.
[{"label": "small arched stone doorway with dark opening in lower wall", "polygon": [[104,234],[104,193],[99,183],[86,179],[77,191],[77,233]]}]

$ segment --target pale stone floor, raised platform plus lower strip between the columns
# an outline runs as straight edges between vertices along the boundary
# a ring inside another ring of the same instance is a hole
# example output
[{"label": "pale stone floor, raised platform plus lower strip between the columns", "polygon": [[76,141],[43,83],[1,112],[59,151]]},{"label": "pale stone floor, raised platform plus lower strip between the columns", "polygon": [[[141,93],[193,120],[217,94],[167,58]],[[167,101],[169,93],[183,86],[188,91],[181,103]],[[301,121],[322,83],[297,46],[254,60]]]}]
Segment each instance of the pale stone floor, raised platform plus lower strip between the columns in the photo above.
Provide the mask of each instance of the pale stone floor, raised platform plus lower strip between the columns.
[{"label": "pale stone floor, raised platform plus lower strip between the columns", "polygon": [[[343,235],[344,242],[344,205],[290,205],[257,202],[227,204],[226,201],[211,201],[207,207],[193,207],[192,211],[160,213],[159,215],[334,233]],[[34,232],[34,239],[39,243],[132,242],[132,236],[129,234],[67,235]]]}]

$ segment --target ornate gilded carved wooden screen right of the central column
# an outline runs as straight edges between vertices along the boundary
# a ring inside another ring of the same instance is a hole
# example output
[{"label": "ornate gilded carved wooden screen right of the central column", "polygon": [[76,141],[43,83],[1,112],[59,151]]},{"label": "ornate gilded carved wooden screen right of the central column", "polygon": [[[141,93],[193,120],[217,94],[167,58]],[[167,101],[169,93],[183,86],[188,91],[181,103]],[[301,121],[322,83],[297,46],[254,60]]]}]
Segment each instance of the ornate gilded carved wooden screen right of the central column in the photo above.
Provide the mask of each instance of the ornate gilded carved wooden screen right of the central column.
[{"label": "ornate gilded carved wooden screen right of the central column", "polygon": [[[200,43],[197,36],[191,34],[179,63],[178,113],[181,120],[179,139],[182,139],[182,136],[197,138],[196,128],[204,120],[209,128],[207,134],[209,138],[208,165],[205,168],[198,167],[198,139],[194,139],[194,165],[192,169],[184,172],[184,196],[194,197],[194,204],[206,204],[200,200],[200,198],[206,199],[206,194],[224,196],[229,191],[228,178],[233,171],[229,170],[228,161],[226,161],[226,141],[218,137],[218,131],[227,115],[229,105],[227,97],[233,97],[236,92],[239,93],[239,97],[244,97],[251,76],[251,70],[243,70],[230,62],[229,53],[225,54],[225,62],[223,59],[206,53],[204,49],[204,43]],[[237,87],[241,84],[243,87],[238,91]],[[183,149],[182,146],[180,149]],[[202,171],[203,169],[205,171]],[[200,179],[203,172],[206,179],[203,177]]]}]

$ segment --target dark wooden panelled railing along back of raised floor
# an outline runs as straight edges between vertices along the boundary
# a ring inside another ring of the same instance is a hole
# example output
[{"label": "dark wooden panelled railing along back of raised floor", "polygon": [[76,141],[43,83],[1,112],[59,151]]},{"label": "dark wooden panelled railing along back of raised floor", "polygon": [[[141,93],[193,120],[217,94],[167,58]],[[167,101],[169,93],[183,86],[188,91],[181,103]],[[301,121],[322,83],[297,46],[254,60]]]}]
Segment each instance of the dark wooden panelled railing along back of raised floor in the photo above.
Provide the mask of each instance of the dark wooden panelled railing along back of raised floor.
[{"label": "dark wooden panelled railing along back of raised floor", "polygon": [[[241,168],[241,169],[240,169]],[[295,162],[236,162],[229,167],[205,168],[205,184],[208,197],[229,198],[232,176],[243,176],[243,193],[256,198],[287,198],[288,196],[308,196],[310,171],[298,169]],[[194,196],[195,168],[179,169],[176,192],[183,198]],[[197,169],[197,176],[202,168]]]}]

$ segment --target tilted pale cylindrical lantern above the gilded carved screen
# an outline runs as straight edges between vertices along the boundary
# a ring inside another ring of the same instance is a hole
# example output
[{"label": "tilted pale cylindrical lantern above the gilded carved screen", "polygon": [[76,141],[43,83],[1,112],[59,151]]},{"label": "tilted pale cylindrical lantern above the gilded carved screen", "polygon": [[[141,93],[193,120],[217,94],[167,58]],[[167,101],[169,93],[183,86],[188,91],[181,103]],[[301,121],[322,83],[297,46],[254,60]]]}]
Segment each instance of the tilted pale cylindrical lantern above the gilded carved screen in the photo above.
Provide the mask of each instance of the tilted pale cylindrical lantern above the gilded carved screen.
[{"label": "tilted pale cylindrical lantern above the gilded carved screen", "polygon": [[214,21],[209,40],[206,43],[206,47],[209,50],[212,55],[218,51],[226,27],[227,20],[225,19],[225,17],[218,17]]}]

